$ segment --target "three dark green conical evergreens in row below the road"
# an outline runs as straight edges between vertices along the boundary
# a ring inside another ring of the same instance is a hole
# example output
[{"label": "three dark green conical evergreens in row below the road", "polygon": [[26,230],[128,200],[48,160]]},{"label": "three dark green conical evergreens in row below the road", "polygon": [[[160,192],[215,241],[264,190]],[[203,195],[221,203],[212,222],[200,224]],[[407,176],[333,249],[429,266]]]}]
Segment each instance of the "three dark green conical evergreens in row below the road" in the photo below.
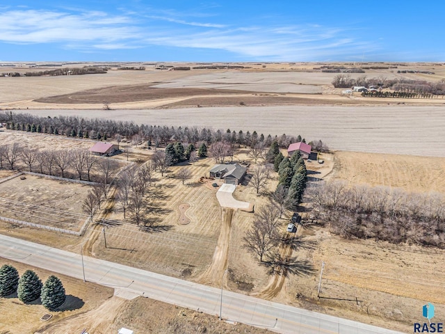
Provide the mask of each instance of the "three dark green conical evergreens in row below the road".
[{"label": "three dark green conical evergreens in row below the road", "polygon": [[22,277],[10,264],[0,268],[0,297],[10,296],[17,292],[23,303],[31,303],[40,297],[42,305],[48,310],[56,310],[65,302],[65,288],[56,276],[49,276],[44,284],[32,270],[26,270]]}]

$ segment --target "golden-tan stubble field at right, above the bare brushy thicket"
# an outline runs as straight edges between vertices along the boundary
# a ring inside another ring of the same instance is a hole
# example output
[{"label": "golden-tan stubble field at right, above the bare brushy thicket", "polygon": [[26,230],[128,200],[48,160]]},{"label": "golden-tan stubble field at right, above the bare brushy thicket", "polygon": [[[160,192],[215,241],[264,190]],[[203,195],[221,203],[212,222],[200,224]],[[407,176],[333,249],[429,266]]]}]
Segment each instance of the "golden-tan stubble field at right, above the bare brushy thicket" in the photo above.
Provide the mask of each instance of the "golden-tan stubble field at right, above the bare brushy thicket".
[{"label": "golden-tan stubble field at right, above the bare brushy thicket", "polygon": [[332,177],[350,184],[391,186],[405,191],[445,191],[445,159],[412,155],[335,152]]}]

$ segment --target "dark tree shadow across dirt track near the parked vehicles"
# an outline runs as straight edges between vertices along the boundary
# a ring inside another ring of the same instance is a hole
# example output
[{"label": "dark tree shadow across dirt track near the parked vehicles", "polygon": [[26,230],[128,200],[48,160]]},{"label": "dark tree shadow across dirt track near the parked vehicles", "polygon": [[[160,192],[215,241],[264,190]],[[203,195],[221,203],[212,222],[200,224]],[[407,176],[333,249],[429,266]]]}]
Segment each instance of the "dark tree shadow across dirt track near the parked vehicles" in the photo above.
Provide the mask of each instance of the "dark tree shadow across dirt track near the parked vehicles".
[{"label": "dark tree shadow across dirt track near the parked vehicles", "polygon": [[268,269],[269,275],[275,273],[285,277],[289,275],[309,275],[314,273],[314,266],[308,260],[298,260],[297,257],[283,258],[280,254],[272,255],[272,257],[261,262]]}]

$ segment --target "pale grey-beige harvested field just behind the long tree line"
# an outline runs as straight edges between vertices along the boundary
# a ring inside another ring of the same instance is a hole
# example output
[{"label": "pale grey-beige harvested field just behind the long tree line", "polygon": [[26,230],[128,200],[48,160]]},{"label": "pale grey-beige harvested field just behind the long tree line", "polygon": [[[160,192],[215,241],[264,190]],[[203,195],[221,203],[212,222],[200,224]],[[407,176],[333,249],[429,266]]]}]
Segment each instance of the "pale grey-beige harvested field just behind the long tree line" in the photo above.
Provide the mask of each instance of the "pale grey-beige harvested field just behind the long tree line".
[{"label": "pale grey-beige harvested field just behind the long tree line", "polygon": [[[445,103],[445,100],[444,100]],[[321,139],[333,150],[445,157],[444,106],[234,106],[145,110],[29,110],[38,116],[133,120]]]}]

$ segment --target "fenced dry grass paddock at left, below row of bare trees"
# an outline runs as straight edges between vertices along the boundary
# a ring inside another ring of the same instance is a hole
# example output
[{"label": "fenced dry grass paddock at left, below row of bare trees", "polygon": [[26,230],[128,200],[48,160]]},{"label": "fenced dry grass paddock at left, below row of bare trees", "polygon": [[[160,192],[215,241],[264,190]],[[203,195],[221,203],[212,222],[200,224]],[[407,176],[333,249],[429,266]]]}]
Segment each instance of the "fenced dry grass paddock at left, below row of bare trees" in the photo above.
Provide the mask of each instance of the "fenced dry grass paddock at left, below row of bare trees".
[{"label": "fenced dry grass paddock at left, below row of bare trees", "polygon": [[88,215],[81,210],[90,186],[26,175],[0,184],[0,216],[79,231]]}]

